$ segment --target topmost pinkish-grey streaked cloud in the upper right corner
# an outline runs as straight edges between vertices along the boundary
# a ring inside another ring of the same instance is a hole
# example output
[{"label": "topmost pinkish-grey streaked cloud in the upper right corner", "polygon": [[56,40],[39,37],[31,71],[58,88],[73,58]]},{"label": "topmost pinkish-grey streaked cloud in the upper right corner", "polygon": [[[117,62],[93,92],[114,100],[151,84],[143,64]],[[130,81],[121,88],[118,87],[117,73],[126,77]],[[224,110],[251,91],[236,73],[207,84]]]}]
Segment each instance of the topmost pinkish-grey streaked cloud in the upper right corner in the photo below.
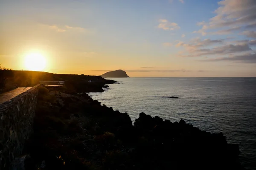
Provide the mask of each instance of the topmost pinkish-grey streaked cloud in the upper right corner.
[{"label": "topmost pinkish-grey streaked cloud in the upper right corner", "polygon": [[[194,33],[206,34],[230,34],[234,31],[244,31],[256,27],[256,0],[221,0],[216,14],[209,22],[201,22],[202,28]],[[221,31],[210,31],[212,29]]]}]

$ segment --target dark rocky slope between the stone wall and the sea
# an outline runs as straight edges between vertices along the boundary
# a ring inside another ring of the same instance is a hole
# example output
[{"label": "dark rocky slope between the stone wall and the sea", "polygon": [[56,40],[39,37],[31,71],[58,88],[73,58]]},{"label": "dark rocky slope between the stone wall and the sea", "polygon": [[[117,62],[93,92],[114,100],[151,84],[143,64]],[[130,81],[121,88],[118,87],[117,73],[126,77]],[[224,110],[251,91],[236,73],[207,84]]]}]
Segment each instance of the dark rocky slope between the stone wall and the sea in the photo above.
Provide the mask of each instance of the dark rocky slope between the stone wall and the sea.
[{"label": "dark rocky slope between the stone wall and the sea", "polygon": [[26,170],[243,169],[238,145],[228,144],[222,133],[145,113],[133,125],[128,113],[84,93],[90,90],[96,88],[81,83],[39,89],[34,134],[22,157]]}]

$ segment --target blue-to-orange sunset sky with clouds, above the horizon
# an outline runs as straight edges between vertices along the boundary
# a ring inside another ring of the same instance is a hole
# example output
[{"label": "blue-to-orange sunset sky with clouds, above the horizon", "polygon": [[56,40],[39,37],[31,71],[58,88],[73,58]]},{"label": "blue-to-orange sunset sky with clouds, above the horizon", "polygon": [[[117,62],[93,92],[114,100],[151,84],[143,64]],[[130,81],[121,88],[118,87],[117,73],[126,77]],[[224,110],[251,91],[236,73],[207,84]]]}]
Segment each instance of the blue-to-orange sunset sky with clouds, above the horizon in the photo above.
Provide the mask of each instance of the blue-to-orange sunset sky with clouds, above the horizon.
[{"label": "blue-to-orange sunset sky with clouds, above the horizon", "polygon": [[256,0],[0,0],[0,63],[130,77],[256,77]]}]

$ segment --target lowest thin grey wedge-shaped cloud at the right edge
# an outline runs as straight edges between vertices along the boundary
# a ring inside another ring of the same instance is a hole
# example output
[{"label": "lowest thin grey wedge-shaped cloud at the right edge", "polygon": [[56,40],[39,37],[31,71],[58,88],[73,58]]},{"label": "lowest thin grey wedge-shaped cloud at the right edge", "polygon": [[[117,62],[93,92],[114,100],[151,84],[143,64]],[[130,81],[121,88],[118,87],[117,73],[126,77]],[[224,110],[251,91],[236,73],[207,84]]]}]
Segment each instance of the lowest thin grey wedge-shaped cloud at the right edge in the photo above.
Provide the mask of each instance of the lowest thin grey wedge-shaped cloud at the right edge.
[{"label": "lowest thin grey wedge-shaped cloud at the right edge", "polygon": [[201,60],[201,61],[240,61],[245,63],[256,63],[256,53],[254,54],[242,54],[242,55],[236,55],[233,57],[218,57],[214,59],[207,59],[207,60]]}]

